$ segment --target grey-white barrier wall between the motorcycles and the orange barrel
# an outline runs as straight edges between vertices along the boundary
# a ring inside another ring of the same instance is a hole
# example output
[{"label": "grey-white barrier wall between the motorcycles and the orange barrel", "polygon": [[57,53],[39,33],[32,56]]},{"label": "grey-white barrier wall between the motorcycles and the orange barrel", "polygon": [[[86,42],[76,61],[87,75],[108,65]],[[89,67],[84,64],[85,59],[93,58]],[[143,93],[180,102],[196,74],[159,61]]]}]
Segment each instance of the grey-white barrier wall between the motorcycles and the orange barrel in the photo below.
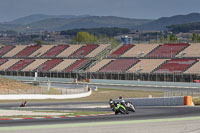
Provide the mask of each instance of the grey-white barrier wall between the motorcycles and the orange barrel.
[{"label": "grey-white barrier wall between the motorcycles and the orange barrel", "polygon": [[[184,105],[184,97],[167,98],[130,98],[124,99],[130,101],[134,106],[181,106]],[[115,100],[119,101],[119,100]]]}]

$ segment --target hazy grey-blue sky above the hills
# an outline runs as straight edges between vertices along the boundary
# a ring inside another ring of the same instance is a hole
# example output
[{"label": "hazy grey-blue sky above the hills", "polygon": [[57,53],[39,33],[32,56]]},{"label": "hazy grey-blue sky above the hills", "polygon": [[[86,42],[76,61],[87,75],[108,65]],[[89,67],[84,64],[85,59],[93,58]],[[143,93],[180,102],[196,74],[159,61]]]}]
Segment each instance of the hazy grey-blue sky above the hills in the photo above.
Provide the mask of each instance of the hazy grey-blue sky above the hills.
[{"label": "hazy grey-blue sky above the hills", "polygon": [[156,19],[200,13],[200,0],[0,0],[0,22],[30,14]]}]

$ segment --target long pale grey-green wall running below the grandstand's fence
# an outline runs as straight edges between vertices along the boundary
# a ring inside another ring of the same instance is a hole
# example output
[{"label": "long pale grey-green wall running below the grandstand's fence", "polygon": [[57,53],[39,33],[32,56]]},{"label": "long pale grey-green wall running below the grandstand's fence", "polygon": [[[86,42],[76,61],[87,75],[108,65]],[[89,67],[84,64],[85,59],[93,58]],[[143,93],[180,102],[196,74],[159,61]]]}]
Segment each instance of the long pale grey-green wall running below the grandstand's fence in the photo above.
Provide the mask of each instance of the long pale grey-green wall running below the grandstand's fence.
[{"label": "long pale grey-green wall running below the grandstand's fence", "polygon": [[[33,81],[34,77],[25,76],[3,76],[6,78]],[[74,79],[71,78],[44,78],[37,77],[37,81],[41,82],[61,82],[73,83]],[[134,81],[134,80],[108,80],[108,79],[90,79],[90,84],[105,84],[105,85],[125,85],[125,86],[149,86],[149,87],[177,87],[177,88],[200,88],[200,83],[186,83],[186,82],[155,82],[155,81]]]}]

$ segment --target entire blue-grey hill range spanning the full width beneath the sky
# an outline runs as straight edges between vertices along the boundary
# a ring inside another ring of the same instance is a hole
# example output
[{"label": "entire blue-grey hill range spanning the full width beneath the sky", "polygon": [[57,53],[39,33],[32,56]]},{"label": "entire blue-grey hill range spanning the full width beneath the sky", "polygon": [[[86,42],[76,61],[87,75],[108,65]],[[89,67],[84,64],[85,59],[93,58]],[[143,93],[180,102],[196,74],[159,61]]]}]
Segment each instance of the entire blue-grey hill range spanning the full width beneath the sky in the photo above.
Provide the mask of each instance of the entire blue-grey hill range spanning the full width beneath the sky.
[{"label": "entire blue-grey hill range spanning the full width beneath the sky", "polygon": [[199,13],[162,17],[157,20],[115,16],[73,16],[34,14],[11,22],[0,23],[1,30],[61,31],[80,28],[119,27],[138,30],[167,30],[167,26],[200,22]]}]

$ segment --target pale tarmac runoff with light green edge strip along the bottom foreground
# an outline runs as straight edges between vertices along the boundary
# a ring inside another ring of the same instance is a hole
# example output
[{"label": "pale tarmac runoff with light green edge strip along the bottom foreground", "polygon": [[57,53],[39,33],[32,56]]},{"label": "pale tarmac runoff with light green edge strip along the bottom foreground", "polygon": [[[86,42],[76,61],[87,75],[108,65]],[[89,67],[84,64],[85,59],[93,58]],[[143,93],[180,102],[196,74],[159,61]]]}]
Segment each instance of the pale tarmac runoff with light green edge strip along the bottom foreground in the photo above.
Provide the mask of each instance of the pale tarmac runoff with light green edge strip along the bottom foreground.
[{"label": "pale tarmac runoff with light green edge strip along the bottom foreground", "polygon": [[1,127],[0,133],[199,133],[200,117]]}]

